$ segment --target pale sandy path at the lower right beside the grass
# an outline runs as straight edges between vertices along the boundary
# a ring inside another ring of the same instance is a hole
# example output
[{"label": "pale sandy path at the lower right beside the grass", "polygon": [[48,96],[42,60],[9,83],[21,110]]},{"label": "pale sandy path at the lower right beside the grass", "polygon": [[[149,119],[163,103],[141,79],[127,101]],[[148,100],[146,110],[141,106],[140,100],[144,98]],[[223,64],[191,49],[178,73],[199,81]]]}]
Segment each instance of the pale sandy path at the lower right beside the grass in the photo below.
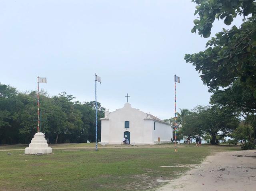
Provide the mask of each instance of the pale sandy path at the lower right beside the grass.
[{"label": "pale sandy path at the lower right beside the grass", "polygon": [[201,165],[156,191],[188,190],[256,190],[256,150],[221,152],[208,156]]}]

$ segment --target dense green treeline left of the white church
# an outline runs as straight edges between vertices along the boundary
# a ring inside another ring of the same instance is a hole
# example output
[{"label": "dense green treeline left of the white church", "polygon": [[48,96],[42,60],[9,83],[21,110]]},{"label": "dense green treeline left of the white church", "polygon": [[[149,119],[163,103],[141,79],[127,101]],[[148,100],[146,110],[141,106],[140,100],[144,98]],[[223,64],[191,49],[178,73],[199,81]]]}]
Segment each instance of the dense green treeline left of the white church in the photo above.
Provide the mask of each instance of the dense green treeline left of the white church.
[{"label": "dense green treeline left of the white church", "polygon": [[[66,92],[40,92],[41,132],[49,143],[95,142],[95,101],[83,104]],[[98,103],[98,141],[104,110]],[[37,92],[0,83],[0,144],[30,143],[37,131]]]}]

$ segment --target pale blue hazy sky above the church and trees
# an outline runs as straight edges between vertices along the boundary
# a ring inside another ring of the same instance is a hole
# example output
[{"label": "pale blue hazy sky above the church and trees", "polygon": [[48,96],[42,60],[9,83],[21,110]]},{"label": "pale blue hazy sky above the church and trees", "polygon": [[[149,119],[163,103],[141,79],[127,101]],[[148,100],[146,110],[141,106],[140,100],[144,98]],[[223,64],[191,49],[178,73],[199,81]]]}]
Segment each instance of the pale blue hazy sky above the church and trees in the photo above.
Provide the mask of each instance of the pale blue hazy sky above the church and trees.
[{"label": "pale blue hazy sky above the church and trees", "polygon": [[[208,105],[210,93],[186,53],[209,39],[191,33],[191,0],[0,0],[0,83],[18,91],[66,92],[80,102],[95,100],[110,111],[133,108],[158,118],[177,109]],[[231,26],[214,22],[212,36]]]}]

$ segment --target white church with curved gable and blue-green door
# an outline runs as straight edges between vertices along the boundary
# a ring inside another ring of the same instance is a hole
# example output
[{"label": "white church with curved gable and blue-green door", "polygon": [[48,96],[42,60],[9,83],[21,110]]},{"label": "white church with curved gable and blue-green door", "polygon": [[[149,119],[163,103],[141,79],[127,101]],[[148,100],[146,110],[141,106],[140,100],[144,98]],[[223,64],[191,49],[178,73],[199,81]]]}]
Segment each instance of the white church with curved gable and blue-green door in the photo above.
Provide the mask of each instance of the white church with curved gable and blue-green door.
[{"label": "white church with curved gable and blue-green door", "polygon": [[128,102],[116,111],[105,111],[100,120],[101,144],[122,144],[124,137],[130,144],[161,144],[172,138],[171,124],[132,108]]}]

